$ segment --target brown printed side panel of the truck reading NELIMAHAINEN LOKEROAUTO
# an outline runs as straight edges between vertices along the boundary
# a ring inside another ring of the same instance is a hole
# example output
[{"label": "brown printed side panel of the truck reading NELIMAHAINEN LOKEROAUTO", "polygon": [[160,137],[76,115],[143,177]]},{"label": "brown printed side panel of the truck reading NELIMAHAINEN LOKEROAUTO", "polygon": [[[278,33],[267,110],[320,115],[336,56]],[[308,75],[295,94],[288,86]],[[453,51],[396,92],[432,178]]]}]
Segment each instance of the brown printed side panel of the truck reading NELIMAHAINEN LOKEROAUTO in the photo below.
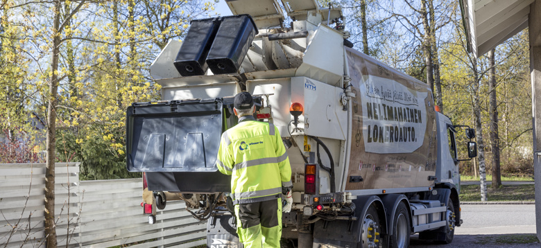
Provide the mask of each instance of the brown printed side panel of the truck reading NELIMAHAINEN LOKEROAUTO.
[{"label": "brown printed side panel of the truck reading NELIMAHAINEN LOKEROAUTO", "polygon": [[347,175],[363,181],[347,182],[346,190],[431,186],[436,114],[428,85],[352,49],[347,60],[358,108]]}]

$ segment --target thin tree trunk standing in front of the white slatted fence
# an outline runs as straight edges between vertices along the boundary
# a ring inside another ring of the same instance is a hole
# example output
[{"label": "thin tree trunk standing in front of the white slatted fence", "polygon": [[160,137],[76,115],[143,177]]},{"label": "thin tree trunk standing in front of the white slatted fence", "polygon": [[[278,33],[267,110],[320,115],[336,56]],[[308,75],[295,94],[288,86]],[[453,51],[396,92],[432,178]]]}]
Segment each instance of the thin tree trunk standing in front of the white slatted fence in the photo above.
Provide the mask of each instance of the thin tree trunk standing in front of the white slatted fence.
[{"label": "thin tree trunk standing in front of the white slatted fence", "polygon": [[58,96],[58,56],[60,53],[60,0],[55,5],[53,19],[53,54],[49,79],[49,106],[47,107],[46,170],[45,170],[45,236],[46,247],[57,246],[55,227],[55,159],[56,159],[56,100]]}]

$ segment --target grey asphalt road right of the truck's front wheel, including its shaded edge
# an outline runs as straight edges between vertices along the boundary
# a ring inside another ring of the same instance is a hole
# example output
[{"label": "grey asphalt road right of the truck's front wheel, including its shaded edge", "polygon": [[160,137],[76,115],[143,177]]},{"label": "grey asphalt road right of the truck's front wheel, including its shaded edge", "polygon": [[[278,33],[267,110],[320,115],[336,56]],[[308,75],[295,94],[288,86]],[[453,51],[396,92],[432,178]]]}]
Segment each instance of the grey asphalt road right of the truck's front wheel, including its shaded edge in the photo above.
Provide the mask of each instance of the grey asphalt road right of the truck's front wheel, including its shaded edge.
[{"label": "grey asphalt road right of the truck's front wheel, including its shaded edge", "polygon": [[[462,205],[461,227],[457,227],[449,245],[434,245],[411,236],[412,248],[495,248],[540,247],[540,243],[501,242],[535,234],[535,204]],[[498,241],[499,240],[499,241]]]}]

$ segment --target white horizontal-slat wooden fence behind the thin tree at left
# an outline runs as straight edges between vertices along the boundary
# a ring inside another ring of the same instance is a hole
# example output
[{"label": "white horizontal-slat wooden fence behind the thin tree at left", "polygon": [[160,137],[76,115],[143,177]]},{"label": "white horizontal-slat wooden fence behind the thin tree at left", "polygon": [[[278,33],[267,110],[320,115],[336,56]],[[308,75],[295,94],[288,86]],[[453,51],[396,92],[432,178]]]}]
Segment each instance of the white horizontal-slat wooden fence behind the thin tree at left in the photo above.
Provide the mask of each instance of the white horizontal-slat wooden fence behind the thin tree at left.
[{"label": "white horizontal-slat wooden fence behind the thin tree at left", "polygon": [[[148,224],[141,179],[79,181],[79,163],[55,166],[58,246],[195,247],[206,244],[206,222],[183,202],[167,202]],[[45,247],[45,164],[0,163],[0,247]]]}]

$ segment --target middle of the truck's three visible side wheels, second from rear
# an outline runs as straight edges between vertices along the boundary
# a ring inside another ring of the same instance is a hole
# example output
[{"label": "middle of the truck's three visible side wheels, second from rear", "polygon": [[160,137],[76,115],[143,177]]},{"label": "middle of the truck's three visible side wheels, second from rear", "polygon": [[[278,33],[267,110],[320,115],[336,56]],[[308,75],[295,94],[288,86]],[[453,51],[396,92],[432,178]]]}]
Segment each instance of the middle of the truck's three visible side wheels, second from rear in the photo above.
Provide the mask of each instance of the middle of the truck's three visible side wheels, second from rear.
[{"label": "middle of the truck's three visible side wheels, second from rear", "polygon": [[411,234],[408,209],[404,202],[398,204],[395,216],[393,217],[393,236],[389,237],[389,247],[409,247],[409,236]]}]

